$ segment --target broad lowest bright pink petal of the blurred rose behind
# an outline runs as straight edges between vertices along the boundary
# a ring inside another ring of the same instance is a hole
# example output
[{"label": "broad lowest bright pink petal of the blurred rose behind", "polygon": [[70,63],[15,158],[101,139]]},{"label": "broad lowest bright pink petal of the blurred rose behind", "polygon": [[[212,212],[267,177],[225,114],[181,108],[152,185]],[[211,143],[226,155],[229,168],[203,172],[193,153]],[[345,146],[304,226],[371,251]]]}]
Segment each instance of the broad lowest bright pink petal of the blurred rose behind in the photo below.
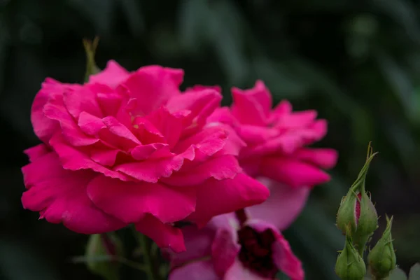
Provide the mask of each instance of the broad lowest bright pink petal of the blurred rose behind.
[{"label": "broad lowest bright pink petal of the blurred rose behind", "polygon": [[265,158],[260,172],[262,176],[292,188],[313,187],[330,181],[330,176],[318,167],[294,158]]}]

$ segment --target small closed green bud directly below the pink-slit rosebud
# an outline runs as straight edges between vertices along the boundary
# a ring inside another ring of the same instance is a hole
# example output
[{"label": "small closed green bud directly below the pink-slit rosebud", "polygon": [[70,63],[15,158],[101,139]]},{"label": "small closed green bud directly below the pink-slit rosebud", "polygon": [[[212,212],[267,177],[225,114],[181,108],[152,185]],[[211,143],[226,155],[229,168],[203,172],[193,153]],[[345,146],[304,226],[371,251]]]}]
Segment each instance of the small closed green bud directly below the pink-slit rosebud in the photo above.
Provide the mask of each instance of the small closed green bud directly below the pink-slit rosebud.
[{"label": "small closed green bud directly below the pink-slit rosebud", "polygon": [[366,265],[354,248],[349,232],[346,234],[344,249],[335,263],[335,273],[342,280],[361,280],[366,274]]}]

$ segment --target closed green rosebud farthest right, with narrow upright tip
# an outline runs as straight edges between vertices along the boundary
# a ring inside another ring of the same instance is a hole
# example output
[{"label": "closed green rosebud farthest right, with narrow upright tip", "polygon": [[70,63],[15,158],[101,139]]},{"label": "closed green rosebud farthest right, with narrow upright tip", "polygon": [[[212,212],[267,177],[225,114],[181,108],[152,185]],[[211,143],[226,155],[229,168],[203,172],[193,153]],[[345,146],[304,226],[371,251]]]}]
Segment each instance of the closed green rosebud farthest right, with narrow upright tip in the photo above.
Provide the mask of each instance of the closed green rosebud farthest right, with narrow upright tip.
[{"label": "closed green rosebud farthest right, with narrow upright tip", "polygon": [[395,268],[397,262],[391,237],[392,221],[393,217],[391,217],[391,219],[388,218],[388,216],[386,217],[386,229],[382,234],[381,239],[377,241],[377,244],[372,248],[369,255],[367,255],[370,272],[376,276],[377,279],[386,278]]}]

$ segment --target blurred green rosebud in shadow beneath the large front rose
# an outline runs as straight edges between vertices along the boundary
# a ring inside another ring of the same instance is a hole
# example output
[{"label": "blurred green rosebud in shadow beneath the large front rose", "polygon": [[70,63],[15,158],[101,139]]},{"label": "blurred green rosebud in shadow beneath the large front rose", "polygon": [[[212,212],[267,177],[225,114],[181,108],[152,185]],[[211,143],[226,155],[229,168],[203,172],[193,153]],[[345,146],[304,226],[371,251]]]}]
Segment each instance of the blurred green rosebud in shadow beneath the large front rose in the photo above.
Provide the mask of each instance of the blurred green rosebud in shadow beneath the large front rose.
[{"label": "blurred green rosebud in shadow beneath the large front rose", "polygon": [[117,235],[109,232],[90,235],[85,252],[86,265],[90,272],[98,274],[106,280],[117,280],[119,262],[114,256],[123,255],[123,244]]}]

